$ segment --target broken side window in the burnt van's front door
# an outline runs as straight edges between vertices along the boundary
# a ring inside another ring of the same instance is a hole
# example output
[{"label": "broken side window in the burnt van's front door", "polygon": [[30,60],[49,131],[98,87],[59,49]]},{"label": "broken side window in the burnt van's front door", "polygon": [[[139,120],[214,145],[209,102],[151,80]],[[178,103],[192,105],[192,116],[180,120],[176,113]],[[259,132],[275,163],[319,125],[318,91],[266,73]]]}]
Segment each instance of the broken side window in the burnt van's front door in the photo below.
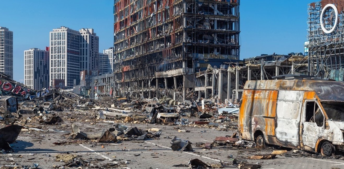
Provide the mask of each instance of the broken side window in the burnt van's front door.
[{"label": "broken side window in the burnt van's front door", "polygon": [[318,104],[315,101],[306,103],[306,118],[305,122],[314,122],[321,127],[324,124],[324,115],[321,112]]}]

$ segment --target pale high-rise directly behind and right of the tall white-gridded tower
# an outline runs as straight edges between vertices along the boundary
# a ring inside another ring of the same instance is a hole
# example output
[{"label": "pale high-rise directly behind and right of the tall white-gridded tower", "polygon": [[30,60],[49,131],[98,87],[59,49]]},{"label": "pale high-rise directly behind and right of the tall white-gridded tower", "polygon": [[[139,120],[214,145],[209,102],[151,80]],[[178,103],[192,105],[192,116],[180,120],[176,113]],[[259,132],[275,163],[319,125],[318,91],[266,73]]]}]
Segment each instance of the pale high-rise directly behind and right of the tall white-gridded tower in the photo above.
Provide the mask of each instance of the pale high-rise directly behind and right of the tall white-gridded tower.
[{"label": "pale high-rise directly behind and right of the tall white-gridded tower", "polygon": [[97,70],[99,37],[93,29],[82,28],[80,32],[80,71]]}]

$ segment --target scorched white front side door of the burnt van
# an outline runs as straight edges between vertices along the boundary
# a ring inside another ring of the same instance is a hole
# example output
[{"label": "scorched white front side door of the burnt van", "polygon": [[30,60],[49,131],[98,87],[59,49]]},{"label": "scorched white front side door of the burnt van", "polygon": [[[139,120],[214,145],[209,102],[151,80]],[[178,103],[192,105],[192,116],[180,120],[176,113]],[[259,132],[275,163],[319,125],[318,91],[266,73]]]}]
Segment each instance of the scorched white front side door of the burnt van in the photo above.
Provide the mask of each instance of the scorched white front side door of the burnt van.
[{"label": "scorched white front side door of the burnt van", "polygon": [[324,135],[325,116],[316,100],[305,100],[301,118],[301,147],[314,151],[318,139]]}]

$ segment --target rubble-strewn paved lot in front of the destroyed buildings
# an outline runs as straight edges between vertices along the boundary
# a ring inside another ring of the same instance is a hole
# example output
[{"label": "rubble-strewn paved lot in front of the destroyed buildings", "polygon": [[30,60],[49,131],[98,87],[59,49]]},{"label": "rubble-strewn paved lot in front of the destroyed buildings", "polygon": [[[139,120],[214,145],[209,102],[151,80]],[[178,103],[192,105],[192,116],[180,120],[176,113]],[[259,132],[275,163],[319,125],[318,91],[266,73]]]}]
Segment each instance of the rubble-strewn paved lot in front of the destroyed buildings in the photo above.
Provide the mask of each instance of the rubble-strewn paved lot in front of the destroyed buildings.
[{"label": "rubble-strewn paved lot in front of the destroyed buildings", "polygon": [[61,89],[14,98],[16,111],[0,113],[0,156],[5,159],[0,168],[129,168],[148,157],[184,155],[169,167],[260,168],[281,158],[322,158],[239,138],[238,104],[168,97],[93,100]]}]

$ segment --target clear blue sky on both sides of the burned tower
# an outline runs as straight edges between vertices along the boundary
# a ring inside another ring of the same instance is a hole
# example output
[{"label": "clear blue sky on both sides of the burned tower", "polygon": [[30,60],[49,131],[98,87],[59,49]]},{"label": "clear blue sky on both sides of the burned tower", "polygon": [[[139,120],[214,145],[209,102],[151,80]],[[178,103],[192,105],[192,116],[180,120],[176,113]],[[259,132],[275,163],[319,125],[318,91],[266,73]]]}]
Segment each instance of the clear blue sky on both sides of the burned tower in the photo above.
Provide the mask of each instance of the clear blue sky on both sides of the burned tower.
[{"label": "clear blue sky on both sides of the burned tower", "polygon": [[[24,81],[24,50],[45,49],[60,26],[93,28],[99,52],[113,44],[113,0],[1,0],[0,26],[13,31],[13,76]],[[240,59],[302,52],[307,4],[314,0],[240,0]]]}]

